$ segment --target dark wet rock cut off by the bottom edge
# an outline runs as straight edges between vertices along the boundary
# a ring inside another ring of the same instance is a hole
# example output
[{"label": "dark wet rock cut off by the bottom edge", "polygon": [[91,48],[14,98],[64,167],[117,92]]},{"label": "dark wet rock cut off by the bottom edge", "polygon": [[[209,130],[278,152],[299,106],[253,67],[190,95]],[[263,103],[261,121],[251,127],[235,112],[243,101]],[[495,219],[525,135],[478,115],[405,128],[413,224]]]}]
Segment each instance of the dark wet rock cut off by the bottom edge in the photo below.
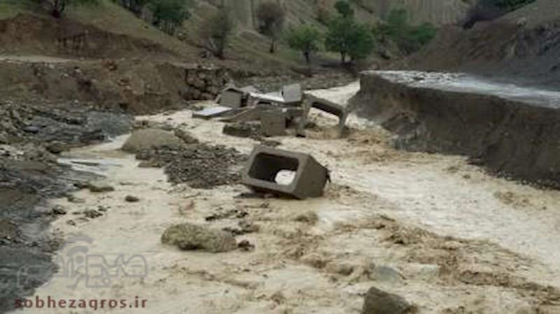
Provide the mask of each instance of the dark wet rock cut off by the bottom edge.
[{"label": "dark wet rock cut off by the bottom edge", "polygon": [[412,314],[414,306],[405,299],[371,287],[365,294],[362,314]]}]

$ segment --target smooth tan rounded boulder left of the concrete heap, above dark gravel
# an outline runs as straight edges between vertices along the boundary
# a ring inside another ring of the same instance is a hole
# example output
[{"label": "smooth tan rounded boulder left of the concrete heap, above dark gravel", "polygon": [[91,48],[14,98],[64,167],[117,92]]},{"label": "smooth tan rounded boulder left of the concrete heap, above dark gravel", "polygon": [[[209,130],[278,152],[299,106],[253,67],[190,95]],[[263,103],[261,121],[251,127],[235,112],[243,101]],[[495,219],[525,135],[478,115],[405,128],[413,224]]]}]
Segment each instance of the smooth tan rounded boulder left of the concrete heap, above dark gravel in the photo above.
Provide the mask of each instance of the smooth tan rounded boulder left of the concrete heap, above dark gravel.
[{"label": "smooth tan rounded boulder left of the concrete heap, above dark gravel", "polygon": [[162,129],[137,129],[123,144],[125,152],[138,152],[162,146],[180,146],[183,140],[172,132]]}]

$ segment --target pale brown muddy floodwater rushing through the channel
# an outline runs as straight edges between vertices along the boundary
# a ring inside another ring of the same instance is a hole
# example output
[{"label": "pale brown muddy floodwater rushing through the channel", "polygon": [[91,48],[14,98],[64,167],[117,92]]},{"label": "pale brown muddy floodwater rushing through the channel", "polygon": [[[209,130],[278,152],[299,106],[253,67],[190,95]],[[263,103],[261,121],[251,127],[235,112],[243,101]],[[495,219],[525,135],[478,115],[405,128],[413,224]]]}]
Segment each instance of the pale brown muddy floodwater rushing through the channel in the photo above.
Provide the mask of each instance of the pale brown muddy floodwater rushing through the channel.
[{"label": "pale brown muddy floodwater rushing through the channel", "polygon": [[[316,93],[341,101],[357,88]],[[223,135],[221,123],[193,120],[188,111],[138,119],[169,122],[241,152],[257,143]],[[147,300],[146,308],[125,306],[122,313],[342,314],[360,313],[363,294],[374,285],[405,297],[419,313],[560,313],[559,192],[486,176],[460,157],[396,151],[384,131],[356,118],[350,123],[345,139],[330,139],[329,129],[277,138],[281,148],[310,152],[332,170],[325,197],[304,201],[239,198],[246,192],[241,185],[171,186],[161,169],[139,168],[132,155],[118,151],[124,138],[71,152],[66,162],[104,173],[116,191],[80,191],[79,204],[57,200],[69,208],[53,224],[69,240],[59,252],[65,271],[36,296]],[[140,201],[126,202],[129,194]],[[95,219],[72,213],[99,206],[106,211]],[[228,210],[246,216],[204,219]],[[237,237],[255,250],[185,252],[160,243],[171,224],[222,228],[240,220],[258,225]],[[78,280],[85,268],[77,267],[84,259],[76,259],[76,248],[85,250],[80,256],[105,257],[106,264],[137,255],[137,267],[131,271],[131,262],[126,274],[108,272],[87,283]],[[143,275],[144,261],[147,276],[134,277]]]}]

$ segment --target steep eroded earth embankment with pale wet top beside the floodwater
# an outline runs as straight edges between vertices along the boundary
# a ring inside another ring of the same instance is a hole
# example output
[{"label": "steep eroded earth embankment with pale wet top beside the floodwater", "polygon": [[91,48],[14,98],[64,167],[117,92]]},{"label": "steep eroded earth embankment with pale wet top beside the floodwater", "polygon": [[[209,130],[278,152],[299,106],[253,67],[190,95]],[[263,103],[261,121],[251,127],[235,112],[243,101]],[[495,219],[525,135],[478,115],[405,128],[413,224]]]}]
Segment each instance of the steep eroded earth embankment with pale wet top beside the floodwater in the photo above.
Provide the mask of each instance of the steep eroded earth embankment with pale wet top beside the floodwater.
[{"label": "steep eroded earth embankment with pale wet top beside the floodwater", "polygon": [[560,186],[560,93],[461,74],[365,72],[358,114],[407,150],[468,155],[505,176]]}]

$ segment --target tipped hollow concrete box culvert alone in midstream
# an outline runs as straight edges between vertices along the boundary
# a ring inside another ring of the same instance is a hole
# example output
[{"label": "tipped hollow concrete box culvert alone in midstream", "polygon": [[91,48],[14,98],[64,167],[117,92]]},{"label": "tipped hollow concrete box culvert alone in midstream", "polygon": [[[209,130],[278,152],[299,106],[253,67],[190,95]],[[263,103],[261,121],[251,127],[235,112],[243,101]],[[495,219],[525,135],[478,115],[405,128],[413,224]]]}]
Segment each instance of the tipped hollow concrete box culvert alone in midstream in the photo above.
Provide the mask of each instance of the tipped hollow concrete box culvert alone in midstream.
[{"label": "tipped hollow concrete box culvert alone in midstream", "polygon": [[[279,175],[290,174],[290,182],[279,183]],[[291,178],[293,177],[293,178]],[[257,192],[296,199],[321,197],[328,169],[311,155],[258,145],[241,172],[241,183]]]}]

